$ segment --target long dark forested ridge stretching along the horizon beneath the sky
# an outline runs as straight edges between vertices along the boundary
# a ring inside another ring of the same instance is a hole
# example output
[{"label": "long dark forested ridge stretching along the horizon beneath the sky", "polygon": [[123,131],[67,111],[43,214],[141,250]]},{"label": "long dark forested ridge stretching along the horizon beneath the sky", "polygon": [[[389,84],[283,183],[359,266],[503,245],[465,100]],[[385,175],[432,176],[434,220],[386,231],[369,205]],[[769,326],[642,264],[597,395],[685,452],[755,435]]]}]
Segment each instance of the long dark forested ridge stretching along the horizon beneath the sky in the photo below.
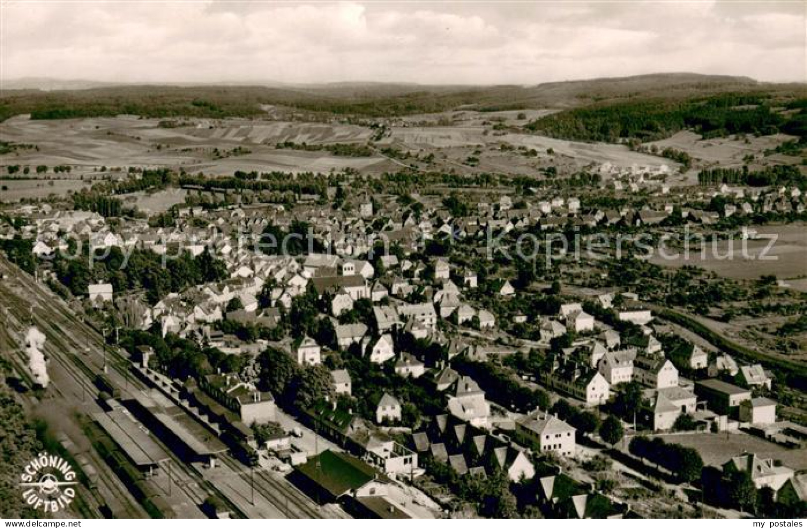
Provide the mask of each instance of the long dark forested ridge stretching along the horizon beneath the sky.
[{"label": "long dark forested ridge stretching along the horizon beneath the sky", "polygon": [[0,90],[0,120],[13,115],[76,118],[136,114],[146,117],[249,117],[261,104],[358,116],[395,116],[453,110],[572,109],[651,97],[693,98],[725,93],[792,92],[746,77],[663,73],[550,82],[534,86],[428,86],[341,83],[310,86],[107,86],[40,91]]}]

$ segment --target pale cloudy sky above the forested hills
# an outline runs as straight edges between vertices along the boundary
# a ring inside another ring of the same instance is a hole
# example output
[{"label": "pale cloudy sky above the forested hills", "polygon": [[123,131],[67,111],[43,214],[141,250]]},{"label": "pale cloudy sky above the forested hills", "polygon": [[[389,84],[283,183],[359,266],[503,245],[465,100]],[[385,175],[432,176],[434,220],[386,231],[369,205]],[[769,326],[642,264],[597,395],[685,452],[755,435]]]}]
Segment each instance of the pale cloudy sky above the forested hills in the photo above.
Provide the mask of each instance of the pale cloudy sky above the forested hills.
[{"label": "pale cloudy sky above the forested hills", "polygon": [[805,81],[807,3],[11,2],[0,78],[537,84],[653,72]]}]

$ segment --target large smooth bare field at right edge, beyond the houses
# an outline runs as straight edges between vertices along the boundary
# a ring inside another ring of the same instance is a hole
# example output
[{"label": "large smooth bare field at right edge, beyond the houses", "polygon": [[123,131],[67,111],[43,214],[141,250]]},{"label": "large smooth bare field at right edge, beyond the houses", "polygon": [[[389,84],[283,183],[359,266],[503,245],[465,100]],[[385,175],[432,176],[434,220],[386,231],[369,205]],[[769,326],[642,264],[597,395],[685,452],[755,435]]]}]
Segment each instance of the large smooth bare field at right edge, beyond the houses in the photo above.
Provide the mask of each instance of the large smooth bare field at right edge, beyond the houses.
[{"label": "large smooth bare field at right edge, beyond the houses", "polygon": [[[734,279],[757,279],[760,275],[776,275],[780,279],[788,279],[807,274],[807,227],[804,223],[752,228],[760,236],[776,235],[776,242],[769,250],[766,250],[771,243],[769,239],[721,240],[714,244],[705,243],[706,258],[701,259],[699,242],[693,236],[688,259],[680,251],[679,258],[675,260],[656,255],[650,261],[671,268],[693,265]],[[743,255],[743,244],[746,247],[745,255],[750,258]],[[759,260],[760,256],[772,260]]]}]

